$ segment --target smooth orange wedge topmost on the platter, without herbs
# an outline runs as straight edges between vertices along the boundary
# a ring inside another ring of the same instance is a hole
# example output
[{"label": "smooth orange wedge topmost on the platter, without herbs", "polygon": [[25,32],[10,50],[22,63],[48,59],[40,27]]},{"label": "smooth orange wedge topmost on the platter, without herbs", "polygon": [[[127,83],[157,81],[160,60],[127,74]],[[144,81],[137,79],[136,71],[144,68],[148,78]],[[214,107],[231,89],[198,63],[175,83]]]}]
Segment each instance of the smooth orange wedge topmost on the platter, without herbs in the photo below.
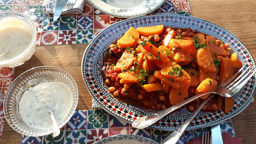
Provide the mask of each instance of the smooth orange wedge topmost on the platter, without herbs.
[{"label": "smooth orange wedge topmost on the platter, without herbs", "polygon": [[160,35],[163,32],[163,25],[151,26],[151,27],[138,27],[136,30],[143,36]]}]

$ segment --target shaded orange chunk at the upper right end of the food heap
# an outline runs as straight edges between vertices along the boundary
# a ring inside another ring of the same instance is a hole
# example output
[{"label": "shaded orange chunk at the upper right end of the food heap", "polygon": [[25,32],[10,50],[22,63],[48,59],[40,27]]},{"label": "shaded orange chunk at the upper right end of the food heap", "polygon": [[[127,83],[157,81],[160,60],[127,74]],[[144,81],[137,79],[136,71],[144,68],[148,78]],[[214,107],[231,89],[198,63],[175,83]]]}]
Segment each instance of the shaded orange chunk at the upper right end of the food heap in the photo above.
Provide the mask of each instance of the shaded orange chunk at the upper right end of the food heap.
[{"label": "shaded orange chunk at the upper right end of the food heap", "polygon": [[216,40],[215,37],[207,36],[206,45],[209,47],[212,53],[219,54],[222,57],[226,57],[225,49],[221,45],[218,45],[215,40]]}]

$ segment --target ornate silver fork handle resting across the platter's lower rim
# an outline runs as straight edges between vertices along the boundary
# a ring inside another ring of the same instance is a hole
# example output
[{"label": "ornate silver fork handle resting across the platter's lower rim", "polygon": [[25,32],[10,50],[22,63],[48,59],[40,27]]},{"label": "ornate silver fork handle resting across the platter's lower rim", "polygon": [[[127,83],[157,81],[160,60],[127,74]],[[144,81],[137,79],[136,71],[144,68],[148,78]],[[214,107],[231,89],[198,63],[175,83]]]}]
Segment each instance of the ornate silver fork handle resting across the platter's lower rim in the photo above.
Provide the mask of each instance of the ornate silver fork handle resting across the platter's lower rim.
[{"label": "ornate silver fork handle resting across the platter's lower rim", "polygon": [[200,98],[203,95],[207,95],[207,94],[213,94],[215,93],[213,90],[211,91],[207,91],[204,93],[200,93],[198,95],[195,95],[187,100],[184,100],[183,102],[176,104],[170,108],[164,109],[163,111],[157,112],[157,113],[153,113],[150,114],[148,116],[144,116],[141,118],[138,118],[137,120],[135,120],[132,124],[133,127],[137,128],[137,129],[144,129],[150,125],[152,125],[153,123],[157,122],[158,120],[160,120],[161,118],[163,118],[164,116],[166,116],[167,114],[175,111],[176,109],[182,107],[183,105],[192,102],[195,99]]}]

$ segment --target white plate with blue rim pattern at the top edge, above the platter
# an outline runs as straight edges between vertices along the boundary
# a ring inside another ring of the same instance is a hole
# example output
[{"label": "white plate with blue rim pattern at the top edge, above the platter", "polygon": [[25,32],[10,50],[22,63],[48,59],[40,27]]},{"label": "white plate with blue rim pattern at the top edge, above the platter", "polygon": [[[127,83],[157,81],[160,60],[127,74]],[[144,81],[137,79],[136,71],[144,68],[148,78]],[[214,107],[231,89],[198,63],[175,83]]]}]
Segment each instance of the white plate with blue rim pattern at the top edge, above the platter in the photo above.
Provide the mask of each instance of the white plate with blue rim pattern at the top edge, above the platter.
[{"label": "white plate with blue rim pattern at the top edge, above the platter", "polygon": [[153,12],[165,0],[87,0],[99,11],[115,17],[135,17]]}]

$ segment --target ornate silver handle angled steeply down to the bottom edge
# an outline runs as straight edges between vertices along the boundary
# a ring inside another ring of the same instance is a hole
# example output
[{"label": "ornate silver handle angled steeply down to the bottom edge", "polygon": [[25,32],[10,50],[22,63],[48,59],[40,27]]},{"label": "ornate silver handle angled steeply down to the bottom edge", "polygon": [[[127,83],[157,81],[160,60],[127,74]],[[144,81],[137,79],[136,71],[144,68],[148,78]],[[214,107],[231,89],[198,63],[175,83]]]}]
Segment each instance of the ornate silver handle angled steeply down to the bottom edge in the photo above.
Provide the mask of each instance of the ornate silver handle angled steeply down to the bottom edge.
[{"label": "ornate silver handle angled steeply down to the bottom edge", "polygon": [[203,108],[203,106],[214,96],[214,94],[208,96],[207,99],[203,101],[203,103],[194,111],[191,116],[180,125],[175,131],[173,131],[169,136],[167,136],[164,140],[162,140],[159,144],[176,144],[180,139],[180,136],[183,134],[185,129],[188,127],[189,123],[194,120],[194,117],[197,115],[199,111]]}]

